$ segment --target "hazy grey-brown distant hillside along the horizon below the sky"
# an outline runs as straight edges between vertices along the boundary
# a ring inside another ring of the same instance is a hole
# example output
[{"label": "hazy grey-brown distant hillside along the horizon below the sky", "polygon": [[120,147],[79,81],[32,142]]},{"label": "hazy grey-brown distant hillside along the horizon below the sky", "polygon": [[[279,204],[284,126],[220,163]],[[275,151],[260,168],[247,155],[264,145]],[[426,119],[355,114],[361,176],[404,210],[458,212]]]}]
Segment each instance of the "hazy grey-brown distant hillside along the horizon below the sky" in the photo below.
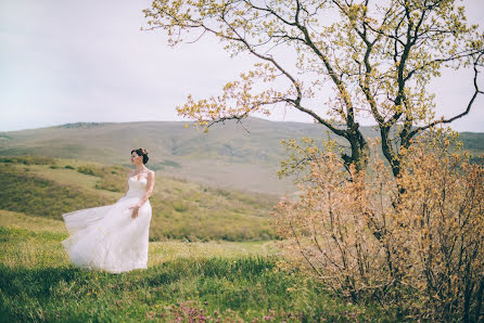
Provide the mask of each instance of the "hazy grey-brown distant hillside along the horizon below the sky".
[{"label": "hazy grey-brown distant hillside along the horizon below the sky", "polygon": [[[254,192],[290,193],[289,179],[276,172],[286,157],[282,139],[327,138],[320,125],[273,122],[257,118],[215,125],[208,133],[186,122],[77,122],[0,132],[0,156],[37,155],[130,166],[132,148],[144,147],[147,167],[161,175],[208,185]],[[249,132],[247,132],[249,131]],[[366,137],[378,132],[362,128]],[[464,146],[484,152],[484,133],[463,132]]]}]

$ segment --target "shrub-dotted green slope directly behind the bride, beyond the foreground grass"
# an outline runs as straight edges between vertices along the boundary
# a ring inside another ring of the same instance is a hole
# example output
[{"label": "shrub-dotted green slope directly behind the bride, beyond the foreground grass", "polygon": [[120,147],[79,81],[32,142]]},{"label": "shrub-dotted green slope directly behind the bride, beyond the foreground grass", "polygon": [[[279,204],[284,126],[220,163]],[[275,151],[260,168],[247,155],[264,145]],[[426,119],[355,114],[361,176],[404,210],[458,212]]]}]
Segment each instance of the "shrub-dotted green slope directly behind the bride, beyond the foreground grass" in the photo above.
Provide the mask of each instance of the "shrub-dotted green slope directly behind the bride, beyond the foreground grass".
[{"label": "shrub-dotted green slope directly behind the bride, beyond the foreground grass", "polygon": [[[52,165],[55,167],[52,168]],[[68,166],[68,167],[67,167]],[[129,169],[77,159],[0,159],[0,209],[62,220],[62,214],[115,203]],[[277,203],[271,195],[230,191],[156,175],[150,240],[265,241]]]}]

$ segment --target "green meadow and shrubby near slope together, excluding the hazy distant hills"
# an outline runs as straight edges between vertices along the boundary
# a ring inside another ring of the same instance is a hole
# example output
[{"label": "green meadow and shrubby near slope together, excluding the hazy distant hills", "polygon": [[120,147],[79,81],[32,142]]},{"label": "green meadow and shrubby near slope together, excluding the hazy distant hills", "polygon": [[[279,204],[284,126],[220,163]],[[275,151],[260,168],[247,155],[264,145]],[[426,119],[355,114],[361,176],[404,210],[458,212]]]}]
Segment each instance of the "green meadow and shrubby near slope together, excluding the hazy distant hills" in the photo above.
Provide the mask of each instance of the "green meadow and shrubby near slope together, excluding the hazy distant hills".
[{"label": "green meadow and shrubby near slope together, excluding the hazy distant hills", "polygon": [[375,303],[340,299],[284,266],[270,227],[273,196],[164,177],[150,198],[149,268],[120,274],[76,268],[61,245],[68,236],[61,215],[114,203],[126,170],[39,156],[0,159],[0,321],[393,320]]}]

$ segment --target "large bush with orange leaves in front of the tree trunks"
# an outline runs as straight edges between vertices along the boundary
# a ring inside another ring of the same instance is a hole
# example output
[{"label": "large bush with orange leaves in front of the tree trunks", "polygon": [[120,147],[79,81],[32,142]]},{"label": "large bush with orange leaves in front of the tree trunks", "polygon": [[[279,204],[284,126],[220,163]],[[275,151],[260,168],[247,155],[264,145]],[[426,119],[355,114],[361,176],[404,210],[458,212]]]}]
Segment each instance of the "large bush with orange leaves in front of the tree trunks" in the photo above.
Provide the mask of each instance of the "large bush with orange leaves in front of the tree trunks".
[{"label": "large bush with orange leaves in front of the tree trunks", "polygon": [[455,142],[422,134],[397,179],[378,157],[356,172],[332,152],[313,155],[302,195],[273,212],[290,263],[400,315],[482,321],[484,170]]}]

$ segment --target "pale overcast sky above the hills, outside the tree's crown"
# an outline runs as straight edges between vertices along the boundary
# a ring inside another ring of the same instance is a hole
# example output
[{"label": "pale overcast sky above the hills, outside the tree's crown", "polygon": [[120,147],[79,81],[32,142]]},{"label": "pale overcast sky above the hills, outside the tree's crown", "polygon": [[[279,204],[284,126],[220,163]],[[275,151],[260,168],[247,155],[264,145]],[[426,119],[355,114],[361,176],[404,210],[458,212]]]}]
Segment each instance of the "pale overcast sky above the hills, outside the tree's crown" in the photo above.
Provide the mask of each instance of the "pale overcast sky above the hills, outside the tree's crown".
[{"label": "pale overcast sky above the hills, outside the tree's crown", "polygon": [[[484,24],[484,1],[466,0],[469,21]],[[220,92],[249,69],[212,39],[167,46],[162,30],[142,31],[147,0],[0,0],[0,131],[77,121],[182,120],[175,107]],[[470,72],[432,85],[437,116],[464,108]],[[484,75],[480,83],[484,88]],[[454,122],[484,131],[484,95]],[[272,120],[311,121],[278,111]]]}]

